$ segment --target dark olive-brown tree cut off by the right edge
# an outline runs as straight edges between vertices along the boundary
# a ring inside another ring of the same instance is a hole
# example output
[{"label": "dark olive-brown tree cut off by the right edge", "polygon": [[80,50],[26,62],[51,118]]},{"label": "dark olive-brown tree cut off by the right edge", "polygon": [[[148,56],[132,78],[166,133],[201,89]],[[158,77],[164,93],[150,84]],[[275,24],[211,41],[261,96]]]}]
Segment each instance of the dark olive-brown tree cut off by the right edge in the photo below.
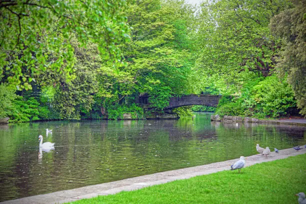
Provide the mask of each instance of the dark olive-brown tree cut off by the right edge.
[{"label": "dark olive-brown tree cut off by the right edge", "polygon": [[288,73],[300,114],[306,115],[306,0],[295,1],[294,8],[275,15],[270,22],[272,33],[281,38],[276,68],[280,76]]}]

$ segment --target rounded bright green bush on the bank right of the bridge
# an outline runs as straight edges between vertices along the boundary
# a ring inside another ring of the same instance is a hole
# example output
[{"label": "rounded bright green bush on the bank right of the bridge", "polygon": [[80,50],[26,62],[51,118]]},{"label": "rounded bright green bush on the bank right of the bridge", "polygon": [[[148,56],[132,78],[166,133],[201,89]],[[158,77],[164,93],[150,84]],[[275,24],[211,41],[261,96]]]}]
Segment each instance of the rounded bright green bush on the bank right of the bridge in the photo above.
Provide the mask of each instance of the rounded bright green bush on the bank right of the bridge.
[{"label": "rounded bright green bush on the bank right of the bridge", "polygon": [[278,117],[288,107],[296,105],[293,91],[283,78],[267,76],[250,80],[241,89],[241,96],[222,96],[216,113],[223,115],[253,116],[256,118]]}]

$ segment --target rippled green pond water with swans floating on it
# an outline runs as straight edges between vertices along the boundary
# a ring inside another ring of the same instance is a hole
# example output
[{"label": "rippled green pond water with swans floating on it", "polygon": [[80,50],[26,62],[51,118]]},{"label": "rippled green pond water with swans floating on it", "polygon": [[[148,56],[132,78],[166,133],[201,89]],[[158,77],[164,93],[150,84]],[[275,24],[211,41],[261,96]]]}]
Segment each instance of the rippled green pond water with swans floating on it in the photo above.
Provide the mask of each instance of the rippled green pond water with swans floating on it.
[{"label": "rippled green pond water with swans floating on it", "polygon": [[[0,201],[196,166],[306,143],[306,127],[178,120],[45,121],[0,126]],[[52,133],[46,136],[46,128]],[[55,142],[54,149],[39,149]]]}]

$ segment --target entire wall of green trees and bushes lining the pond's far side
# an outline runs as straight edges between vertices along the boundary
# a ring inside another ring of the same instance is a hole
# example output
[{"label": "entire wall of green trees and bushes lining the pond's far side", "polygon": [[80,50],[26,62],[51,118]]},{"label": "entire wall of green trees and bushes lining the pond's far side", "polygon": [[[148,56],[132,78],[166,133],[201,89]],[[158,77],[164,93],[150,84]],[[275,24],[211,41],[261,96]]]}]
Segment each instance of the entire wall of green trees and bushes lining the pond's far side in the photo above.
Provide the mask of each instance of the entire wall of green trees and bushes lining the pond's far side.
[{"label": "entire wall of green trees and bushes lining the pond's far side", "polygon": [[[139,96],[162,111],[190,93],[222,94],[221,115],[304,114],[304,4],[1,1],[0,117],[143,118]],[[173,111],[191,110],[215,108]]]}]

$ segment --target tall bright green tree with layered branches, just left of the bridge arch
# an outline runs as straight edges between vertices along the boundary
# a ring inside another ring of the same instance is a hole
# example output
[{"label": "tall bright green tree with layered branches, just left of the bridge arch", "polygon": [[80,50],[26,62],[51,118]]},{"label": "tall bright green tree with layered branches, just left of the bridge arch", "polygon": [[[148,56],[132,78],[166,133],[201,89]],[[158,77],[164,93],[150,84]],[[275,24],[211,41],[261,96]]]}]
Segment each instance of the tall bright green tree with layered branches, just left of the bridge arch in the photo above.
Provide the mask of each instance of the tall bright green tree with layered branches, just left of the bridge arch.
[{"label": "tall bright green tree with layered branches, just left of the bridge arch", "polygon": [[126,11],[131,41],[122,46],[133,91],[147,92],[152,106],[162,109],[171,94],[192,92],[192,40],[188,22],[192,7],[182,0],[141,0]]}]

